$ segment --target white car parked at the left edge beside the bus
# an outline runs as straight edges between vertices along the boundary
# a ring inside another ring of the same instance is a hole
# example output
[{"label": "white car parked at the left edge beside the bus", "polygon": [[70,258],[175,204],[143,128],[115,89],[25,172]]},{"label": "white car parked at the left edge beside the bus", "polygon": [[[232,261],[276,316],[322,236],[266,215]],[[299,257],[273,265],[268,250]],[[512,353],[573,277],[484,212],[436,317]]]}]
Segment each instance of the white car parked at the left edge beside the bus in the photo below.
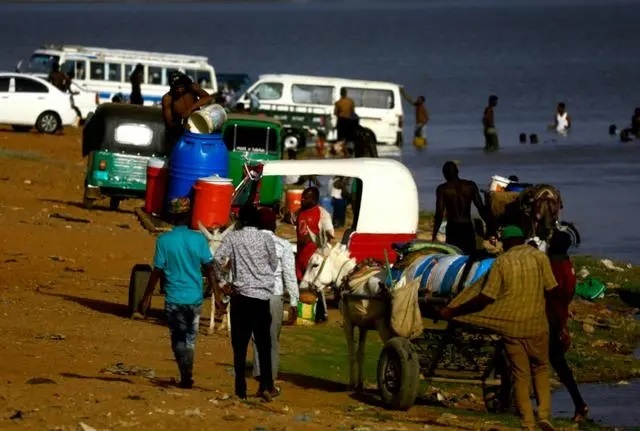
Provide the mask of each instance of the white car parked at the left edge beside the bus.
[{"label": "white car parked at the left edge beside the bus", "polygon": [[1,124],[10,124],[16,131],[35,127],[41,133],[55,133],[77,122],[71,94],[36,76],[0,73]]}]

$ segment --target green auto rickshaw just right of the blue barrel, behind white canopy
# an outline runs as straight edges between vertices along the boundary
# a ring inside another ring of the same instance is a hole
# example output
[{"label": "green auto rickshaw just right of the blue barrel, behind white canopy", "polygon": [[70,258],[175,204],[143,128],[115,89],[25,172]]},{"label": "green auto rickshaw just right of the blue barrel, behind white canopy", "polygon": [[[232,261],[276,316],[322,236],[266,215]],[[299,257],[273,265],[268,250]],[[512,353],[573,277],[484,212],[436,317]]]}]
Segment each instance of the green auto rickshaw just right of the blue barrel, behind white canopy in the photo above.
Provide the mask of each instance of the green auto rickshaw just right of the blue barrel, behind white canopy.
[{"label": "green auto rickshaw just right of the blue barrel, behind white canopy", "polygon": [[[282,125],[273,118],[229,114],[222,126],[222,138],[229,150],[229,177],[237,187],[245,175],[245,164],[282,160]],[[282,198],[281,177],[266,177],[260,187],[260,204],[278,207]]]}]

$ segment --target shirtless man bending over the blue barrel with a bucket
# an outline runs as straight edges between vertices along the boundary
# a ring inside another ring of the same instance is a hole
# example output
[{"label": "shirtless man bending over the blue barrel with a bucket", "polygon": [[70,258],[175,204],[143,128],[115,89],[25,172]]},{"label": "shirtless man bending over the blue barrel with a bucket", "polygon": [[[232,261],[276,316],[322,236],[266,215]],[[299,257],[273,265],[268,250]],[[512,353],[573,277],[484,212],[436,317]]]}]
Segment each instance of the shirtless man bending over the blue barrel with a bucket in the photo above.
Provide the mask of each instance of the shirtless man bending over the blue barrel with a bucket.
[{"label": "shirtless man bending over the blue barrel with a bucket", "polygon": [[162,96],[162,116],[169,134],[177,139],[185,130],[187,118],[211,103],[213,96],[180,72],[169,76],[169,87],[169,92]]}]

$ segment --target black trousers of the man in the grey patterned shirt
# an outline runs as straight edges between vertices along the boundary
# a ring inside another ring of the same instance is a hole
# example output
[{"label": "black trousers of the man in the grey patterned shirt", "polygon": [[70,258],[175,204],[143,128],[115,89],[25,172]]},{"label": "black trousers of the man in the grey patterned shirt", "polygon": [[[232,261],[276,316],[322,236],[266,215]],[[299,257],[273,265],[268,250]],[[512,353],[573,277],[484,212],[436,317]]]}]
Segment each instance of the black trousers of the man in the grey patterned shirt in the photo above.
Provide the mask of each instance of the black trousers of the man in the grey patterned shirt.
[{"label": "black trousers of the man in the grey patterned shirt", "polygon": [[269,300],[237,295],[231,297],[231,346],[235,370],[235,392],[240,398],[247,396],[245,368],[247,347],[253,334],[260,361],[259,391],[273,390],[271,371],[271,309]]}]

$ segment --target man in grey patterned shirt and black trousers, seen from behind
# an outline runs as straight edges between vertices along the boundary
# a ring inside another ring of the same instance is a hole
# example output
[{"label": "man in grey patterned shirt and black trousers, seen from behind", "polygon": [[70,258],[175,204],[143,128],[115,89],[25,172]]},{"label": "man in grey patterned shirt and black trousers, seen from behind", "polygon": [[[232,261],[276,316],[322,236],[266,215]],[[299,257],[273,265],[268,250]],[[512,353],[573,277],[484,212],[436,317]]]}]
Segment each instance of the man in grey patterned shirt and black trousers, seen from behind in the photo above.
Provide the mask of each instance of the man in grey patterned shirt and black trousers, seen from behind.
[{"label": "man in grey patterned shirt and black trousers, seen from behind", "polygon": [[[240,399],[247,398],[244,372],[247,348],[253,334],[262,368],[257,396],[271,401],[279,394],[271,374],[269,332],[269,299],[275,288],[273,274],[278,268],[278,255],[271,235],[258,230],[260,220],[257,208],[242,207],[239,218],[242,228],[227,234],[220,242],[215,255],[215,260],[222,267],[230,263],[233,276],[233,286],[225,286],[223,290],[231,296],[231,346],[235,369],[235,393]],[[218,279],[223,279],[220,274]]]}]

